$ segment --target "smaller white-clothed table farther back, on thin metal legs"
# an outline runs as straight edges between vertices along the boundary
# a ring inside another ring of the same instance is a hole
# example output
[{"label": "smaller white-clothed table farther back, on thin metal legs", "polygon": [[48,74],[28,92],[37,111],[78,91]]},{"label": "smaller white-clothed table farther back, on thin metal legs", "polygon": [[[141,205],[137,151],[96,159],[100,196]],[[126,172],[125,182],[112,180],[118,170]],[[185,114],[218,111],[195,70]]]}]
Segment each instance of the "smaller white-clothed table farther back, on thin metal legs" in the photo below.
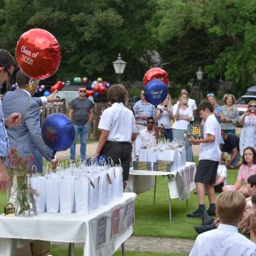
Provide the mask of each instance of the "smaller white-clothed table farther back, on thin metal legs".
[{"label": "smaller white-clothed table farther back, on thin metal legs", "polygon": [[[154,172],[130,170],[130,177],[127,183],[126,191],[133,191],[137,194],[147,192],[154,187],[154,202],[156,192],[156,177],[166,176],[167,186],[169,190],[169,219],[172,220],[172,199],[179,198],[180,200],[187,200],[192,189],[195,189],[194,177],[196,166],[194,162],[187,162],[185,166],[179,167],[173,172]],[[154,177],[154,183],[152,183]]]}]

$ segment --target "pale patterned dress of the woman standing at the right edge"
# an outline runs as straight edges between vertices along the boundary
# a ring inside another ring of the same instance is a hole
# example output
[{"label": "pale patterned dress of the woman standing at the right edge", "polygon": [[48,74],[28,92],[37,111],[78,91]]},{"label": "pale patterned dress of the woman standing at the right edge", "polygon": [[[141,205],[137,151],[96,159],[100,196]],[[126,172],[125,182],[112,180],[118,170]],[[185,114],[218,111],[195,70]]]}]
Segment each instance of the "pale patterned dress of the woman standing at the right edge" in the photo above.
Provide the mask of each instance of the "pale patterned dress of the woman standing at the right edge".
[{"label": "pale patterned dress of the woman standing at the right edge", "polygon": [[240,154],[242,155],[244,148],[249,146],[256,149],[256,115],[247,115],[243,121],[239,142]]}]

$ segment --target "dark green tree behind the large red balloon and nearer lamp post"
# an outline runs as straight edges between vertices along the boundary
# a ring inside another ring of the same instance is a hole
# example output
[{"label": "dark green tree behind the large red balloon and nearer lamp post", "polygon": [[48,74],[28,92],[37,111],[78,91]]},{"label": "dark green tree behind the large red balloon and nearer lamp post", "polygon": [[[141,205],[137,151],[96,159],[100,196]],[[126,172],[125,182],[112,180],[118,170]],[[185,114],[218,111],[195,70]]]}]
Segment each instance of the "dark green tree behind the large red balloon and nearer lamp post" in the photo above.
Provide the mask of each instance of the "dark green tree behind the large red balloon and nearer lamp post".
[{"label": "dark green tree behind the large red balloon and nearer lamp post", "polygon": [[115,81],[112,61],[121,53],[125,79],[142,79],[151,44],[144,22],[153,10],[147,0],[9,0],[0,13],[1,47],[15,53],[23,32],[34,27],[51,32],[61,45],[59,79],[98,76]]}]

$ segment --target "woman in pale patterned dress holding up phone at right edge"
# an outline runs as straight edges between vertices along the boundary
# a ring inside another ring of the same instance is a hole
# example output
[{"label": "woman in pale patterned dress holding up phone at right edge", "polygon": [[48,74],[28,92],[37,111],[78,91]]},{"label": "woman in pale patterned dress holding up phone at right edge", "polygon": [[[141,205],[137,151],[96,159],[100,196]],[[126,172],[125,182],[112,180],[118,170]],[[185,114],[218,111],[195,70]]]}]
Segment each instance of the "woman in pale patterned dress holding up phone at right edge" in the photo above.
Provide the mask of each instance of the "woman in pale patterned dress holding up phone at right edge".
[{"label": "woman in pale patterned dress holding up phone at right edge", "polygon": [[248,103],[247,111],[241,115],[239,124],[243,125],[240,136],[240,154],[244,148],[256,148],[256,101]]}]

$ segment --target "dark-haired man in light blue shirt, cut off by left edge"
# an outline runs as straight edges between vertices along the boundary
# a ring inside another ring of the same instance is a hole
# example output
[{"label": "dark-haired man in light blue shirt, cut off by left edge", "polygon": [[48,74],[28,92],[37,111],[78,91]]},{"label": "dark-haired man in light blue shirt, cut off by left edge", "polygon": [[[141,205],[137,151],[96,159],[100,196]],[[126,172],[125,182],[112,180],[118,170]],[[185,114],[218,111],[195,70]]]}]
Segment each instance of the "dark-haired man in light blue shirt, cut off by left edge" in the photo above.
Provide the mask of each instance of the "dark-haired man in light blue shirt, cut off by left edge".
[{"label": "dark-haired man in light blue shirt, cut off by left edge", "polygon": [[[9,51],[0,49],[0,87],[4,82],[9,81],[15,71],[15,59]],[[0,191],[6,191],[9,187],[9,175],[3,166],[3,159],[9,152],[9,142],[6,128],[20,125],[20,113],[11,113],[4,118],[2,102],[0,100]]]}]

